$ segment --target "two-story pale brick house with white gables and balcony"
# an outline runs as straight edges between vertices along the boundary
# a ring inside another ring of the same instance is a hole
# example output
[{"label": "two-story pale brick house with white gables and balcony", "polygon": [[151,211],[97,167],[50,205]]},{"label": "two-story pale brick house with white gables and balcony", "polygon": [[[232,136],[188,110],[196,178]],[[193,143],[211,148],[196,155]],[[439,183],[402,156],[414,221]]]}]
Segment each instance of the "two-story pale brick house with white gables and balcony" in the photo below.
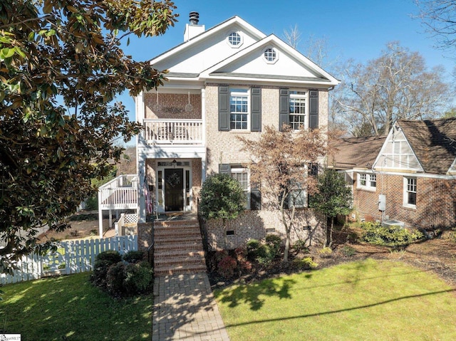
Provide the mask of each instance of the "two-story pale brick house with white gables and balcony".
[{"label": "two-story pale brick house with white gables and balcony", "polygon": [[[184,43],[153,58],[169,70],[165,85],[135,98],[140,189],[144,179],[159,212],[196,211],[199,190],[210,174],[226,172],[241,182],[246,211],[229,222],[230,247],[266,231],[283,233],[279,212],[261,205],[251,187],[249,155],[237,136],[257,139],[264,126],[279,129],[326,127],[328,91],[339,82],[318,65],[271,34],[266,36],[234,16],[209,30],[190,14]],[[146,219],[140,195],[140,222]],[[299,210],[302,238],[324,238],[324,222],[307,208]],[[322,225],[323,224],[323,225]],[[219,222],[209,221],[209,241],[223,241]]]}]

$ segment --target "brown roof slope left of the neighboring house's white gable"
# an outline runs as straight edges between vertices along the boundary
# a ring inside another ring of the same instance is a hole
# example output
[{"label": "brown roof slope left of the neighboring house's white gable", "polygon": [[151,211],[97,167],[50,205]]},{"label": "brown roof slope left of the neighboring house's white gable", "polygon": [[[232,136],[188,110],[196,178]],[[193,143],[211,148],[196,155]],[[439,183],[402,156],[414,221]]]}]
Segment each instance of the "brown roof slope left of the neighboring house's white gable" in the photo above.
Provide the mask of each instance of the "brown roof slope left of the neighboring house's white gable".
[{"label": "brown roof slope left of the neighboring house's white gable", "polygon": [[346,137],[330,142],[330,166],[336,169],[371,169],[386,135]]}]

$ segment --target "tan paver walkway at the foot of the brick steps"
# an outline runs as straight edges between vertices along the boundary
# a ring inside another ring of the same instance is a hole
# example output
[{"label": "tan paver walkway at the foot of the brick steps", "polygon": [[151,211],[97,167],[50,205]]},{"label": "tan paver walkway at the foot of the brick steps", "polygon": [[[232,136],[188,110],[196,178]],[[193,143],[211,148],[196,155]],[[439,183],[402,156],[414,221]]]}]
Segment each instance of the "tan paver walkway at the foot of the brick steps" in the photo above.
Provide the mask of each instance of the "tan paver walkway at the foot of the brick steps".
[{"label": "tan paver walkway at the foot of the brick steps", "polygon": [[229,341],[206,273],[155,278],[153,341]]}]

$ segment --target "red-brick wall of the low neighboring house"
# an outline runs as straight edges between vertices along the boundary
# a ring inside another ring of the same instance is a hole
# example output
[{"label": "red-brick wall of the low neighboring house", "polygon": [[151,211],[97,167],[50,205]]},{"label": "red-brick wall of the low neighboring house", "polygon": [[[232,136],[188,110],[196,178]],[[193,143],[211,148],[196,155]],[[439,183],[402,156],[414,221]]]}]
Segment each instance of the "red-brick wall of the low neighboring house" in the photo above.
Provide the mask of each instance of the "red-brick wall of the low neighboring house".
[{"label": "red-brick wall of the low neighboring house", "polygon": [[[413,176],[413,174],[407,174]],[[380,219],[378,194],[386,196],[385,215],[389,219],[403,221],[405,226],[421,229],[450,228],[456,226],[456,180],[417,177],[416,208],[403,205],[402,175],[377,174],[376,192],[354,189],[355,209],[360,217]]]}]

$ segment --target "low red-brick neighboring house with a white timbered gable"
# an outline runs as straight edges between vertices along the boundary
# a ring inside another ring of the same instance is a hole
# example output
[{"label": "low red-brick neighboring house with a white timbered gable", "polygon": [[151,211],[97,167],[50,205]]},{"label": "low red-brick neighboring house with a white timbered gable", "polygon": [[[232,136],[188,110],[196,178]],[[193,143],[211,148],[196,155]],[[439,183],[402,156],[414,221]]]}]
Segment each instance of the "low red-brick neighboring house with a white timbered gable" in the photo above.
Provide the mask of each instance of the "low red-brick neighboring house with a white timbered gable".
[{"label": "low red-brick neighboring house with a white timbered gable", "polygon": [[333,167],[353,184],[358,219],[429,231],[456,226],[455,118],[398,120],[387,137],[335,145]]}]

